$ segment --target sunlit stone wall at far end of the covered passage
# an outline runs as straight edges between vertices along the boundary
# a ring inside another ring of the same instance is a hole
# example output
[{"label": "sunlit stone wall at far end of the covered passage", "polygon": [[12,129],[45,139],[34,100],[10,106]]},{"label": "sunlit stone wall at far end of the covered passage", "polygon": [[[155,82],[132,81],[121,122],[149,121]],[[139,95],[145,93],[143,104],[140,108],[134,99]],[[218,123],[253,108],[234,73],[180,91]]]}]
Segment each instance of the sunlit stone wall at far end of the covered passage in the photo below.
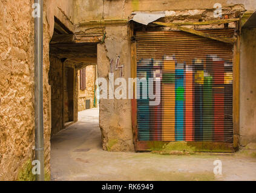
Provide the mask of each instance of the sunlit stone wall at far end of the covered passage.
[{"label": "sunlit stone wall at far end of the covered passage", "polygon": [[[78,81],[78,111],[85,110],[85,101],[90,100],[90,109],[94,107],[94,85],[95,85],[95,72],[96,66],[90,65],[86,66],[85,77],[86,77],[86,88],[85,90],[80,90],[80,81]],[[77,71],[78,80],[80,80],[80,71]]]}]

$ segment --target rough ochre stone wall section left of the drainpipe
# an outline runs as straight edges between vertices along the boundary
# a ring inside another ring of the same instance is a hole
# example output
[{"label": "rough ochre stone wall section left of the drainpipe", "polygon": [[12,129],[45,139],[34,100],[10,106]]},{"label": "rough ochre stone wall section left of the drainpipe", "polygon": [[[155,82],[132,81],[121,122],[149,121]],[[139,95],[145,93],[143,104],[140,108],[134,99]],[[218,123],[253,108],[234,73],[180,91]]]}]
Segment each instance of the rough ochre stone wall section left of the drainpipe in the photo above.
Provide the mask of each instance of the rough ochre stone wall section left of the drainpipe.
[{"label": "rough ochre stone wall section left of the drainpipe", "polygon": [[15,180],[33,157],[31,1],[0,1],[0,10],[0,180]]}]

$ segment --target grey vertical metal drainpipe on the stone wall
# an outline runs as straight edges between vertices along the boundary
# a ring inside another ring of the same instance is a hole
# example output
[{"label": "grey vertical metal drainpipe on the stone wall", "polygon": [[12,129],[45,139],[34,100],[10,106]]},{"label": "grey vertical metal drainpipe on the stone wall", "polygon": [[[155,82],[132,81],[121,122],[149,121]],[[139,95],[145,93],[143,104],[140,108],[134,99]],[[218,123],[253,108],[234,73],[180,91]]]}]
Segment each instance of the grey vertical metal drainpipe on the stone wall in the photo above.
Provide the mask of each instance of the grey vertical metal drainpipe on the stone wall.
[{"label": "grey vertical metal drainpipe on the stone wall", "polygon": [[[34,128],[35,156],[40,163],[37,181],[44,181],[44,119],[43,119],[43,0],[34,0],[38,17],[34,17]],[[40,6],[38,6],[40,5]],[[39,165],[38,165],[39,166]],[[39,168],[38,168],[39,169]]]}]

